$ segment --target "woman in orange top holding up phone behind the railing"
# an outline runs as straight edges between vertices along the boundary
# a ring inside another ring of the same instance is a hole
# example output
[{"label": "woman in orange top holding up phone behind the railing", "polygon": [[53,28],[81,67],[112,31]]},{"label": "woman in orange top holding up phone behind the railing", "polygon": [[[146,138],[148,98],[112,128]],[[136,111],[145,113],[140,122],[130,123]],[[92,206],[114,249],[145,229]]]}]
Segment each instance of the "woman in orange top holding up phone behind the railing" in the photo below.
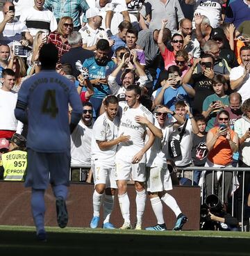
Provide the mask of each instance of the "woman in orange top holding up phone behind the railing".
[{"label": "woman in orange top holding up phone behind the railing", "polygon": [[[213,127],[208,131],[206,138],[208,158],[205,167],[232,167],[233,153],[238,151],[238,134],[229,126],[228,111],[219,111],[218,122],[219,127]],[[214,175],[213,171],[203,171],[204,173],[206,196],[214,193],[218,195],[219,200],[227,203],[230,196],[233,173],[224,173],[224,184],[222,184],[221,172],[215,171]],[[224,191],[222,191],[222,188],[224,188]]]}]

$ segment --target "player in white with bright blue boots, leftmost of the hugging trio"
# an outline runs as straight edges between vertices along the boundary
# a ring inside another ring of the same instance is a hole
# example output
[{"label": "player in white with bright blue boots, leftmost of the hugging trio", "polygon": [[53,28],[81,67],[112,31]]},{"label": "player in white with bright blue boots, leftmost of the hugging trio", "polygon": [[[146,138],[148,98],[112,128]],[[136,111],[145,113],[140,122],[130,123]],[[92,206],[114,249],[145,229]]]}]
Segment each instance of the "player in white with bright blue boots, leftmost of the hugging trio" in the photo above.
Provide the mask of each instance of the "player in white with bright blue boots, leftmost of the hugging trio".
[{"label": "player in white with bright blue boots, leftmost of the hugging trio", "polygon": [[94,122],[92,133],[91,163],[94,176],[94,213],[90,227],[98,227],[103,198],[103,228],[113,229],[115,227],[109,220],[114,205],[115,189],[117,189],[115,152],[118,143],[125,143],[130,139],[130,136],[120,134],[118,137],[119,118],[116,115],[119,105],[117,97],[109,95],[103,104],[105,112]]}]

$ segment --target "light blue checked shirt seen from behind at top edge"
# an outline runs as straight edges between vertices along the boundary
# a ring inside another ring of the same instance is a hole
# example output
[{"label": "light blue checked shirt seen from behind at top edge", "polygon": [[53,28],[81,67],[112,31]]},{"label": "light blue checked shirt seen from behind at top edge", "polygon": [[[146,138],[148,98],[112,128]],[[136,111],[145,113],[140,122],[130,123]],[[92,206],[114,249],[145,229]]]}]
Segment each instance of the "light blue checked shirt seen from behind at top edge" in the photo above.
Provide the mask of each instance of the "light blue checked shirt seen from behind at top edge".
[{"label": "light blue checked shirt seen from behind at top edge", "polygon": [[[44,8],[52,11],[56,19],[60,17],[72,17],[74,27],[80,26],[80,15],[86,13],[89,6],[85,0],[45,0]],[[87,22],[85,15],[83,15],[83,22]]]}]

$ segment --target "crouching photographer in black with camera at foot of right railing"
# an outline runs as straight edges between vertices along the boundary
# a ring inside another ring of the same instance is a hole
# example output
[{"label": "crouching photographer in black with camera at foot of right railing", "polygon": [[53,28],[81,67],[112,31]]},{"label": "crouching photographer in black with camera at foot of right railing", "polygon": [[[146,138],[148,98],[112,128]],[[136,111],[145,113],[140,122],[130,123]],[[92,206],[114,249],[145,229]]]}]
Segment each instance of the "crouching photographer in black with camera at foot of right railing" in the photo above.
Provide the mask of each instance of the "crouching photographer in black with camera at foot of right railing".
[{"label": "crouching photographer in black with camera at foot of right railing", "polygon": [[201,230],[239,231],[238,220],[228,214],[217,195],[211,194],[201,205]]}]

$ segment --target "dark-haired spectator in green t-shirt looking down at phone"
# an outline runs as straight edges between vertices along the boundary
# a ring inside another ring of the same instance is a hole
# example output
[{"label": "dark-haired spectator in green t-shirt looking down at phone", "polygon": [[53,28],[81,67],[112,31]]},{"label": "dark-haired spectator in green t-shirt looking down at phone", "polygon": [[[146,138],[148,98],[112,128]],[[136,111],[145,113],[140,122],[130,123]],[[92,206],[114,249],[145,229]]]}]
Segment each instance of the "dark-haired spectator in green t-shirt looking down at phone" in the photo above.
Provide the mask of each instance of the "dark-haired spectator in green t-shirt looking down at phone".
[{"label": "dark-haired spectator in green t-shirt looking down at phone", "polygon": [[213,128],[217,113],[229,105],[229,97],[225,94],[226,79],[222,74],[215,74],[212,80],[215,93],[203,101],[202,115],[208,119],[206,131]]}]

